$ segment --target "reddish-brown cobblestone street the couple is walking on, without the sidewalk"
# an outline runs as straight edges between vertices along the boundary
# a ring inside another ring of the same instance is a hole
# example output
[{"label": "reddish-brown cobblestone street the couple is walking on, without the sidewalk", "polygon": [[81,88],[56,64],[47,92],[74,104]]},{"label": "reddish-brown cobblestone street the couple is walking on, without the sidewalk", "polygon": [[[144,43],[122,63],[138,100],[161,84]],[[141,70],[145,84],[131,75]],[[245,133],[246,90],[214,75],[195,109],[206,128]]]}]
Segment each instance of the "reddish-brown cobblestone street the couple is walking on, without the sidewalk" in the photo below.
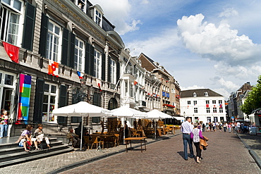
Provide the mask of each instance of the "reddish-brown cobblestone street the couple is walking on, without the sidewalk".
[{"label": "reddish-brown cobblestone street the couple is walking on, without the sidewalk", "polygon": [[[183,159],[181,135],[155,142],[141,153],[134,149],[88,163],[66,173],[261,173],[243,142],[229,132],[204,132],[209,147],[201,163]],[[195,149],[195,148],[194,148]]]}]

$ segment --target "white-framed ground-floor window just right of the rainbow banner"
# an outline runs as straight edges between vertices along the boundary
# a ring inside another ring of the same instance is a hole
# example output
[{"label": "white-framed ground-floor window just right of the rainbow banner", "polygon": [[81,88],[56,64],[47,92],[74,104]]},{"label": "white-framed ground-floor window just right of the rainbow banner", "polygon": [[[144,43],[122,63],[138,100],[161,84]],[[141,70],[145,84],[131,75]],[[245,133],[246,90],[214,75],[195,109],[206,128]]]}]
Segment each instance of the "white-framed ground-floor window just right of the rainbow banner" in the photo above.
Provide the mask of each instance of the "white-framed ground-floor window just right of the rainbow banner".
[{"label": "white-framed ground-floor window just right of the rainbow banner", "polygon": [[[48,122],[48,123],[56,123],[56,118],[51,114],[51,111],[49,110],[50,108],[50,105],[51,105],[51,97],[55,97],[54,99],[54,108],[57,108],[57,102],[58,102],[58,97],[59,97],[59,94],[58,94],[58,85],[56,84],[53,84],[53,83],[49,83],[49,82],[44,82],[44,85],[47,84],[49,85],[49,91],[48,92],[44,92],[44,95],[47,95],[48,96],[48,101],[47,103],[43,103],[42,105],[44,104],[47,104],[47,112],[46,112],[46,117],[44,117],[44,111],[42,112],[42,122]],[[51,86],[55,86],[56,87],[56,92],[55,93],[52,93],[51,92]],[[50,118],[53,117],[54,120],[50,120]]]}]

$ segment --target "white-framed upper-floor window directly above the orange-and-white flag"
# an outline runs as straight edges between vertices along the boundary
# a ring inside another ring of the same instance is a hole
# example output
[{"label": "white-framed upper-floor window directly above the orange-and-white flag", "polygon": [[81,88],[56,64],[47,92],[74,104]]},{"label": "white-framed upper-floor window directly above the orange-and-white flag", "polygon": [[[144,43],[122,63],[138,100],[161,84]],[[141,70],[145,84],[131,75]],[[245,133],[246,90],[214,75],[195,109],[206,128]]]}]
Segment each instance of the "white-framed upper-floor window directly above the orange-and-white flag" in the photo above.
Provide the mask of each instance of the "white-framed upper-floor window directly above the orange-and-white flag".
[{"label": "white-framed upper-floor window directly above the orange-and-white flag", "polygon": [[[49,25],[53,25],[52,30],[49,30]],[[55,29],[59,28],[59,33],[56,33]],[[50,39],[52,39],[50,41]],[[54,44],[54,39],[57,39],[58,43]],[[50,44],[51,43],[51,44]],[[56,51],[54,51],[56,49]],[[54,55],[56,57],[54,57]],[[47,33],[47,58],[55,61],[60,62],[61,60],[61,27],[54,23],[54,21],[49,20],[48,23],[48,33]]]}]

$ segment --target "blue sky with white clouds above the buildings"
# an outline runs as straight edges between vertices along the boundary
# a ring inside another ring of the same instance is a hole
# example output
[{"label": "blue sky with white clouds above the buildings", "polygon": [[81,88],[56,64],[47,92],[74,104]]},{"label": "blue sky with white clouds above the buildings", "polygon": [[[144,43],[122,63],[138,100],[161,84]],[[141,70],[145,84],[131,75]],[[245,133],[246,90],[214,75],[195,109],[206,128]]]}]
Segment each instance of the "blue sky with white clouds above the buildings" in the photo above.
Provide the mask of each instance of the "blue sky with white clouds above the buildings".
[{"label": "blue sky with white clouds above the buildings", "polygon": [[261,75],[261,1],[90,0],[115,25],[131,56],[145,54],[181,90],[229,98]]}]

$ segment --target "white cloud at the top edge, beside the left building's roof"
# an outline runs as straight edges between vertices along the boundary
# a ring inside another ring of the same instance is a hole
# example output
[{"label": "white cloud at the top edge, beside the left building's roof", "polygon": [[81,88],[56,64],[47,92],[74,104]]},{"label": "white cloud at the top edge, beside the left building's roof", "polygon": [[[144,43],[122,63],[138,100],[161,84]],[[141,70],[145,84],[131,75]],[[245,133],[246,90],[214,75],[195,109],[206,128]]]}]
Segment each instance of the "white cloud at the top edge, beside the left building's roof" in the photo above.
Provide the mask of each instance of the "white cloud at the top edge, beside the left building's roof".
[{"label": "white cloud at the top edge, beside the left building's roof", "polygon": [[91,3],[102,6],[104,16],[116,26],[115,30],[119,35],[139,30],[138,24],[142,24],[138,19],[129,18],[132,6],[128,0],[91,0]]}]

